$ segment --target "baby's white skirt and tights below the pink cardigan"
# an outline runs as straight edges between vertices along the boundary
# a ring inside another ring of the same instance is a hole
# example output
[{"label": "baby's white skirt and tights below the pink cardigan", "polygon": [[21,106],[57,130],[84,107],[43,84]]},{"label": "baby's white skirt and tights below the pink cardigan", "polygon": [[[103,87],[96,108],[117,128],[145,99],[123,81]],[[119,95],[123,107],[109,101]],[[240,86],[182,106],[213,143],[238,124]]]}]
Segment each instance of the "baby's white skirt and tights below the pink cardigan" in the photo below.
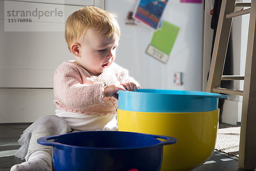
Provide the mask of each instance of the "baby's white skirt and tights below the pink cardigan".
[{"label": "baby's white skirt and tights below the pink cardigan", "polygon": [[38,138],[60,135],[72,132],[72,130],[76,131],[77,128],[80,128],[79,131],[117,130],[114,115],[79,117],[81,114],[78,114],[77,117],[74,117],[76,115],[73,113],[61,111],[58,114],[63,115],[63,117],[43,116],[24,130],[18,140],[21,147],[15,156],[26,159],[26,162],[12,166],[11,171],[52,171],[52,146],[38,144]]}]

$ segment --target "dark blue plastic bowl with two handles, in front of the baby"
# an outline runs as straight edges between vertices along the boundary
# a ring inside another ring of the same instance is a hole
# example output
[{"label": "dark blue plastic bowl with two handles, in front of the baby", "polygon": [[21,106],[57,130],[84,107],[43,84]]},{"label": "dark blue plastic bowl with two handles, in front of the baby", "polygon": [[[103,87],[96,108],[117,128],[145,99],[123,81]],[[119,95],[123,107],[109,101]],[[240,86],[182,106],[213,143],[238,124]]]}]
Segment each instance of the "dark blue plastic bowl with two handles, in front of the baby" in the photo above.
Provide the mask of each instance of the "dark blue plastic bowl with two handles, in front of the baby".
[{"label": "dark blue plastic bowl with two handles, in front of the baby", "polygon": [[163,145],[174,144],[176,139],[145,133],[88,131],[42,137],[38,143],[53,146],[55,171],[160,171]]}]

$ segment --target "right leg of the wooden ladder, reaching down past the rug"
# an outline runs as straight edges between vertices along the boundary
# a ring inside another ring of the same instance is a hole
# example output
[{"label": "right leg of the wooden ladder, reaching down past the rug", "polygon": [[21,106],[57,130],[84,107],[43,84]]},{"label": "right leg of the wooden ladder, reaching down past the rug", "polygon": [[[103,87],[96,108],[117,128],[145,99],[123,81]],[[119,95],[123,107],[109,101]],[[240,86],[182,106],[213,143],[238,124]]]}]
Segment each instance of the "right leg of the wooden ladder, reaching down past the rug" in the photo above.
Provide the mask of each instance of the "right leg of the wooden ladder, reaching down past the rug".
[{"label": "right leg of the wooden ladder, reaching down past the rug", "polygon": [[247,54],[244,73],[239,168],[253,170],[256,165],[256,0],[251,1]]}]

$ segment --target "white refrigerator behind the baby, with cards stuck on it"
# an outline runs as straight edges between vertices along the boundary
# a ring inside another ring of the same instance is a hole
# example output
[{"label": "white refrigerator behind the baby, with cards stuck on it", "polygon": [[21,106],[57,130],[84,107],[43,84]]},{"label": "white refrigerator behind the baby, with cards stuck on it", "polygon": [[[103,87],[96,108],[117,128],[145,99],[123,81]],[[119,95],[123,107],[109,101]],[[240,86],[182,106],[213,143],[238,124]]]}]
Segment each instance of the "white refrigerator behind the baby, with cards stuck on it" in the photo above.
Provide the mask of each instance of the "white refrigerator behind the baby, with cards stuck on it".
[{"label": "white refrigerator behind the baby, with cards stuck on it", "polygon": [[[115,14],[121,29],[115,62],[141,88],[202,91],[204,1],[181,1],[186,0],[169,0],[162,15],[163,21],[179,28],[169,58],[162,62],[146,53],[156,30],[141,23],[128,24],[128,14],[139,1],[105,0],[105,10]],[[173,41],[168,36],[164,40]]]}]

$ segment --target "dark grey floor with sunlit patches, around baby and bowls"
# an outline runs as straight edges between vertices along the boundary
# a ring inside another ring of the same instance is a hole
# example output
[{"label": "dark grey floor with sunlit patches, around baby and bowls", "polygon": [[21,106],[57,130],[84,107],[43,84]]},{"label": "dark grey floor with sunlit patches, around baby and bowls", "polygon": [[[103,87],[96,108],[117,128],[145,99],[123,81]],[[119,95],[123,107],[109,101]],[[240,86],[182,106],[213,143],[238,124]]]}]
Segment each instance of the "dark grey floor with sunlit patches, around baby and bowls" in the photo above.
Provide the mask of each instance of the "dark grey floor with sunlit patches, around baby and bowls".
[{"label": "dark grey floor with sunlit patches, around baby and bowls", "polygon": [[[24,162],[13,156],[23,130],[30,124],[0,124],[0,171],[10,171],[12,165]],[[186,161],[184,161],[186,162]],[[238,158],[213,151],[207,162],[194,171],[243,171],[238,167]]]}]

